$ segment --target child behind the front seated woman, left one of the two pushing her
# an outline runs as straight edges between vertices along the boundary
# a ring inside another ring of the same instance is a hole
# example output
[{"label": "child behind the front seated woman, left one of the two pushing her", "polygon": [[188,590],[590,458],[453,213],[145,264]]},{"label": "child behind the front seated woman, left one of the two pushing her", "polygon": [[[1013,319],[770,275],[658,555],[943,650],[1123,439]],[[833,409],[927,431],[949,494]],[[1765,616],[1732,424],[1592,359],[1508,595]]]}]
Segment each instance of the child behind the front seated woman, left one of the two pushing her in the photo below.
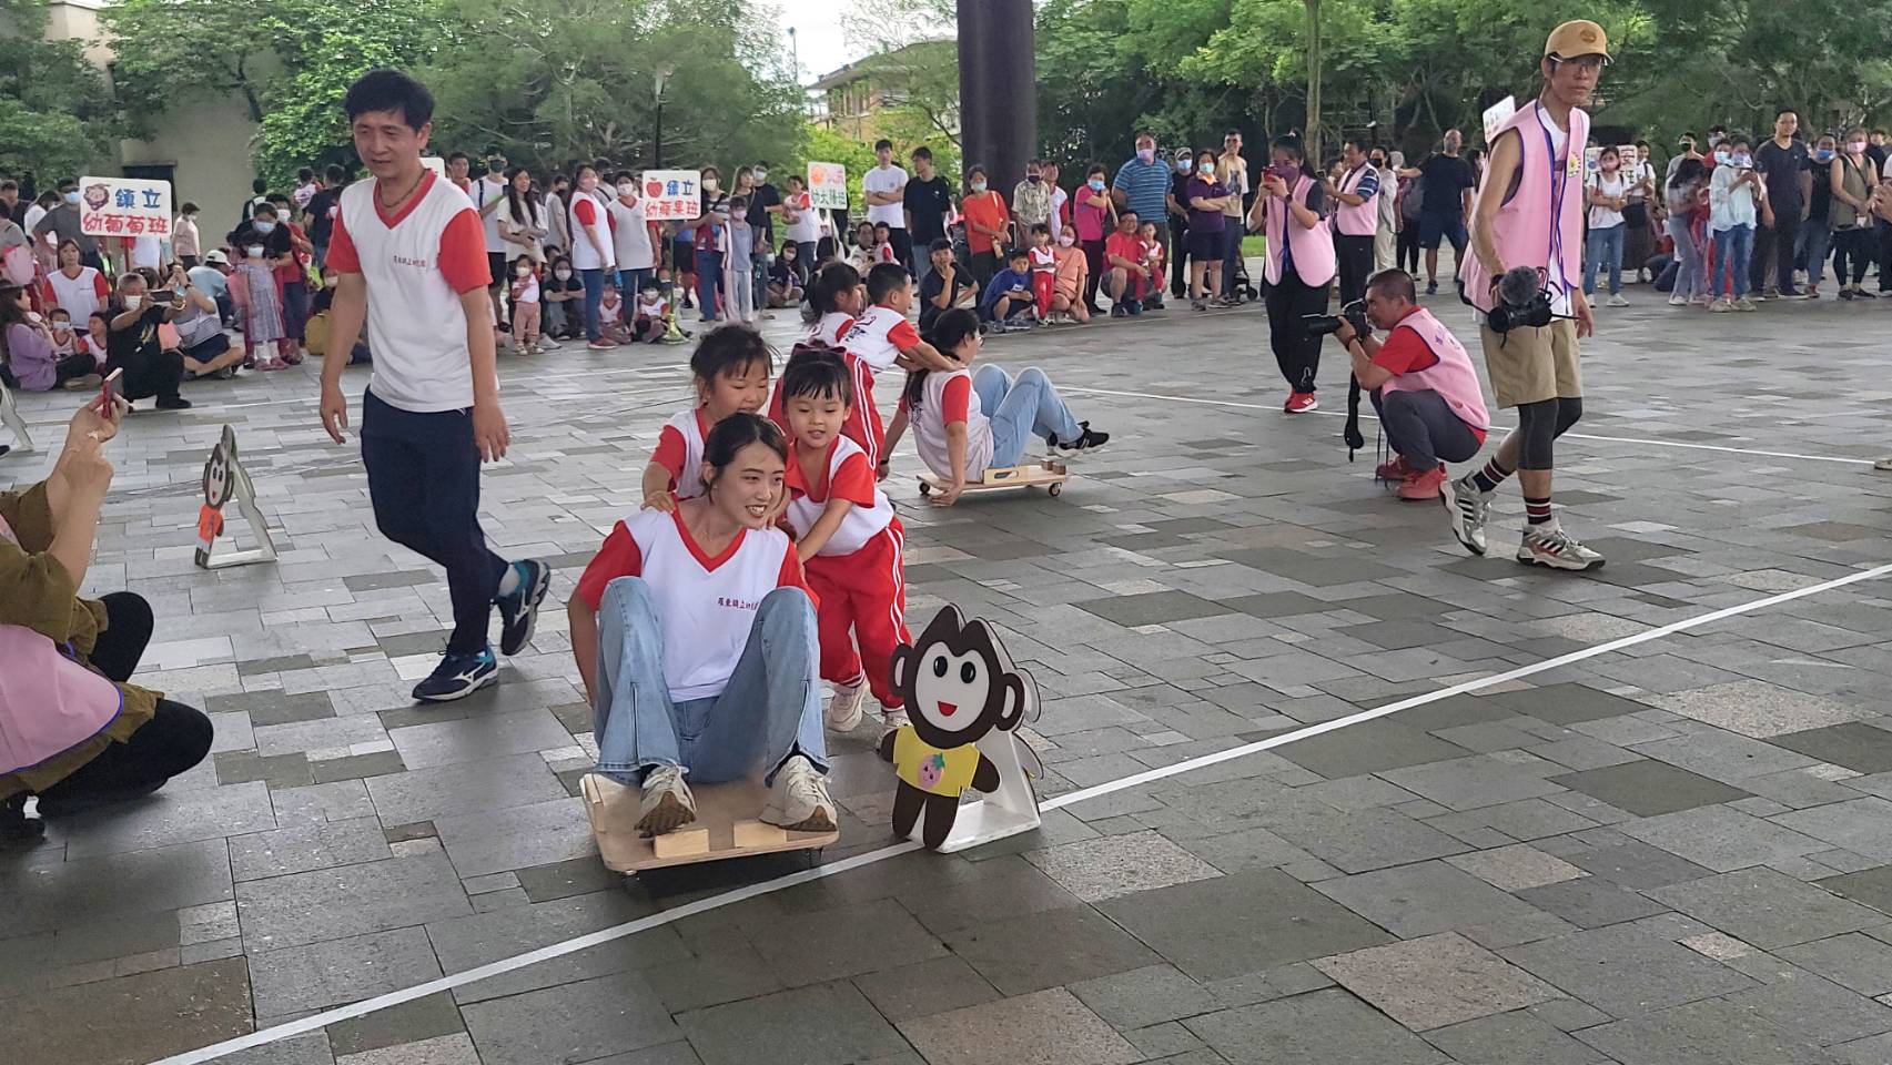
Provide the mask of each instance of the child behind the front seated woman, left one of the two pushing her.
[{"label": "child behind the front seated woman, left one of the two pushing her", "polygon": [[677,499],[706,492],[704,439],[730,414],[755,414],[768,401],[768,344],[755,329],[719,325],[691,356],[696,403],[664,422],[651,465],[643,467],[643,507],[675,511]]}]

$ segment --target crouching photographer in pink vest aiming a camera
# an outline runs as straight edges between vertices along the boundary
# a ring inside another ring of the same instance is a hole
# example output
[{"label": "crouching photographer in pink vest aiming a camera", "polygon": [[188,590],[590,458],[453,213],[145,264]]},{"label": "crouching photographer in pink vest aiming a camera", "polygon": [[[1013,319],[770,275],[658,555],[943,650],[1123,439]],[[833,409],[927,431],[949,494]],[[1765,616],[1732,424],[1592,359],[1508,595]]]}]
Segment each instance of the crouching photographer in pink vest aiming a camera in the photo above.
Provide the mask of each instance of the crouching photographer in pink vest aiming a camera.
[{"label": "crouching photographer in pink vest aiming a camera", "polygon": [[1334,339],[1353,359],[1353,376],[1374,397],[1374,410],[1394,452],[1379,477],[1398,480],[1400,499],[1438,499],[1445,462],[1464,462],[1485,445],[1491,428],[1478,371],[1464,346],[1432,312],[1415,303],[1406,271],[1379,271],[1366,282],[1364,323],[1341,310]]}]

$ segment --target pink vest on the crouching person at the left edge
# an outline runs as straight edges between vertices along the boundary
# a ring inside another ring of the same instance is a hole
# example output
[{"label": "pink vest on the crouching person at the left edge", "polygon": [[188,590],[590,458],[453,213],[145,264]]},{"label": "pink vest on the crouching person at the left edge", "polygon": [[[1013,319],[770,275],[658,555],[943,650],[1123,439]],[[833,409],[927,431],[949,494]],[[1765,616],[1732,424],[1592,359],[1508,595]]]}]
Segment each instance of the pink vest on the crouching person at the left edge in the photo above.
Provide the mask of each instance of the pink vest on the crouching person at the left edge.
[{"label": "pink vest on the crouching person at the left edge", "polygon": [[[0,537],[17,545],[0,518]],[[66,656],[45,634],[0,624],[0,774],[40,762],[91,740],[117,719],[117,685]]]}]

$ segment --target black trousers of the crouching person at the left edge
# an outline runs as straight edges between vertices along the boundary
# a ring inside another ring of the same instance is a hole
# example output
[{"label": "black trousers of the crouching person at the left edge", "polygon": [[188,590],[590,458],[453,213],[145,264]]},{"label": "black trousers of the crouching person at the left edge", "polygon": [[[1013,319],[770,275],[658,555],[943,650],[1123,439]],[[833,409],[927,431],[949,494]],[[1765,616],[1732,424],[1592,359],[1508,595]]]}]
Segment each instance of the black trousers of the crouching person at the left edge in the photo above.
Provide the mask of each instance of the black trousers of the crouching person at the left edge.
[{"label": "black trousers of the crouching person at the left edge", "polygon": [[[132,592],[112,592],[106,630],[98,634],[91,664],[125,683],[151,641],[151,605]],[[72,776],[40,793],[40,813],[59,817],[108,802],[149,794],[210,753],[210,719],[197,709],[157,700],[157,715],[123,743],[112,743]]]}]

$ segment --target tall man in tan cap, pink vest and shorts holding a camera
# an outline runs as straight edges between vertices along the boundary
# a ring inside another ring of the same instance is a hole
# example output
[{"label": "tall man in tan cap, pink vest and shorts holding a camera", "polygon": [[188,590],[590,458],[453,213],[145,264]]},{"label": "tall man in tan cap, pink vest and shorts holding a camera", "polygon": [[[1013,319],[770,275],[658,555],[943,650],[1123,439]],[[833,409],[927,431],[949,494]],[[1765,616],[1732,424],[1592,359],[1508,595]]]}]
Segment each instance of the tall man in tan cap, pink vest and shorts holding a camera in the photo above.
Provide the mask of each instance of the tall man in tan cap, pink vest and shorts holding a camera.
[{"label": "tall man in tan cap, pink vest and shorts holding a camera", "polygon": [[[1584,299],[1584,146],[1589,113],[1610,62],[1603,26],[1572,21],[1544,44],[1544,91],[1491,136],[1491,163],[1472,214],[1472,253],[1459,265],[1461,293],[1480,314],[1485,369],[1498,407],[1517,409],[1517,429],[1491,462],[1445,482],[1451,532],[1474,554],[1485,552],[1485,520],[1498,484],[1517,473],[1525,496],[1525,535],[1517,562],[1553,569],[1595,569],[1603,556],[1563,532],[1550,503],[1551,445],[1584,416],[1578,339],[1595,320]],[[1487,314],[1506,271],[1540,271],[1551,322],[1498,333]]]}]

